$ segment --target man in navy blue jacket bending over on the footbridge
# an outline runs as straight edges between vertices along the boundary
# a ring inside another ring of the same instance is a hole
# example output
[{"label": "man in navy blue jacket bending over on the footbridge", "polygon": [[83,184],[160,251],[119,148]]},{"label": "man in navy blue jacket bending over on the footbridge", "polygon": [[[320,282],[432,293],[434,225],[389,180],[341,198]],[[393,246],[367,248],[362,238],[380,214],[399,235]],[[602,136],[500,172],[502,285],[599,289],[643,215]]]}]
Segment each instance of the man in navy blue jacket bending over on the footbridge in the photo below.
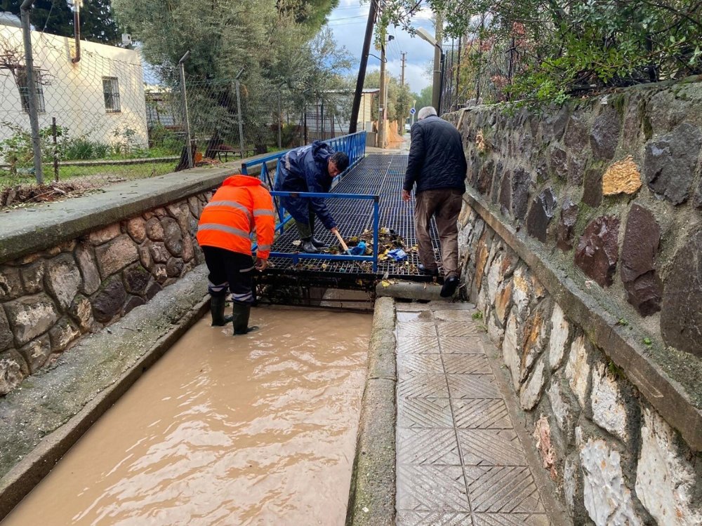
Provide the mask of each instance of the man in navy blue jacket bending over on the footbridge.
[{"label": "man in navy blue jacket bending over on the footbridge", "polygon": [[[343,151],[334,151],[326,142],[314,141],[290,150],[280,159],[275,189],[326,194],[333,178],[348,166],[349,158]],[[281,201],[295,220],[303,252],[319,252],[325,244],[314,237],[315,216],[332,233],[336,231],[336,222],[326,208],[324,198],[283,197]]]}]

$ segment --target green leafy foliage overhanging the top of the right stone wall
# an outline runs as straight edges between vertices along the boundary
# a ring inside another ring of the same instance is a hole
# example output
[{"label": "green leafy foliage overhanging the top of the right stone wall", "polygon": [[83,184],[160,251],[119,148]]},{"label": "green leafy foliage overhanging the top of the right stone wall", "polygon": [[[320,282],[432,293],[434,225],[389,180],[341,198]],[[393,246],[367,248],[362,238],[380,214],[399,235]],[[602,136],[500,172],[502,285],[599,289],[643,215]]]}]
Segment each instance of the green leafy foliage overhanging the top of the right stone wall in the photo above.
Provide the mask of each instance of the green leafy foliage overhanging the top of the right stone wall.
[{"label": "green leafy foliage overhanging the top of the right stone wall", "polygon": [[[388,0],[381,25],[411,26],[419,2]],[[492,100],[562,101],[583,90],[702,73],[693,0],[428,0],[470,50],[469,85]],[[474,94],[475,95],[475,94]]]}]

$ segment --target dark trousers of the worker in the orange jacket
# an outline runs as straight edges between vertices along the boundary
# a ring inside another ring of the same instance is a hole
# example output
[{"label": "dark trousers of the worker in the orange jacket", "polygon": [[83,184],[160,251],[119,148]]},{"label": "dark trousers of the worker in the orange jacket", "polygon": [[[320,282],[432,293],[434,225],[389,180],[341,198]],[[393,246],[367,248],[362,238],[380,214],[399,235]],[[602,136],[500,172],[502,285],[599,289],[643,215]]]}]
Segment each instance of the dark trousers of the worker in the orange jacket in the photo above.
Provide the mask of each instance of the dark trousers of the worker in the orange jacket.
[{"label": "dark trousers of the worker in the orange jacket", "polygon": [[224,248],[202,247],[205,264],[210,274],[207,292],[212,296],[227,295],[232,292],[232,302],[250,305],[253,303],[251,276],[253,259],[250,255],[232,252]]}]

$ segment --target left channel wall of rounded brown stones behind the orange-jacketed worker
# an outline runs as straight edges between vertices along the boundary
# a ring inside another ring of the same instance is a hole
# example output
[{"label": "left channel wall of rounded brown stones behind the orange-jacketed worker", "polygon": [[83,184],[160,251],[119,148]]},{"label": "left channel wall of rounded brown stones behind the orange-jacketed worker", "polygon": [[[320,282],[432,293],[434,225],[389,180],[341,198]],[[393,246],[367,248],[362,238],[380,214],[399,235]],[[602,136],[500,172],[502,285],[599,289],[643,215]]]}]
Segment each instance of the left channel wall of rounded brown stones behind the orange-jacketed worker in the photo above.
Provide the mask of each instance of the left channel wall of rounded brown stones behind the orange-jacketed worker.
[{"label": "left channel wall of rounded brown stones behind the orange-jacketed worker", "polygon": [[0,394],[204,261],[202,192],[0,264]]}]

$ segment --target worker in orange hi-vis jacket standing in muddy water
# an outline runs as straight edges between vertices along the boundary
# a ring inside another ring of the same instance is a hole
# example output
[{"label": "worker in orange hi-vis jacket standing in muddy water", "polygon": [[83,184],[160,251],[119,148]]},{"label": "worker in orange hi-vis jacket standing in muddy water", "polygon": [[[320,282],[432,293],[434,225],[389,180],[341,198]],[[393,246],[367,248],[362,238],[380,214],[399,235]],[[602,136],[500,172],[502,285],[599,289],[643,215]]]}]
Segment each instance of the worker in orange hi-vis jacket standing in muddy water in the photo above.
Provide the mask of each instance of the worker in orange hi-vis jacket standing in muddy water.
[{"label": "worker in orange hi-vis jacket standing in muddy water", "polygon": [[[251,233],[256,231],[256,262],[251,256]],[[234,335],[256,330],[249,327],[253,269],[267,265],[275,231],[270,192],[257,177],[232,175],[215,192],[200,215],[197,243],[210,271],[212,325],[234,324]],[[232,292],[234,316],[225,317],[227,288]]]}]

